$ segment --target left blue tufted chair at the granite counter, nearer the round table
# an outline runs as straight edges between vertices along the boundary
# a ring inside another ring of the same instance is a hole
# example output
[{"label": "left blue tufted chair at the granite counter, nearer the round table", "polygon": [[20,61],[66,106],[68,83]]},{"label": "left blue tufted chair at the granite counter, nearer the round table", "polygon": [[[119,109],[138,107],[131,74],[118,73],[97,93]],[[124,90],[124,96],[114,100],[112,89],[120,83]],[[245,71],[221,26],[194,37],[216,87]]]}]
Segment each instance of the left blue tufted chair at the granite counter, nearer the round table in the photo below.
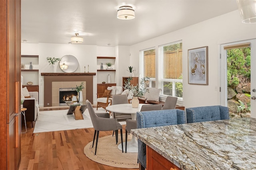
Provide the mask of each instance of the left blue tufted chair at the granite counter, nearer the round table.
[{"label": "left blue tufted chair at the granite counter, nearer the round table", "polygon": [[[186,123],[186,113],[180,109],[138,111],[137,128],[158,127]],[[138,160],[146,168],[146,144],[138,139]]]}]

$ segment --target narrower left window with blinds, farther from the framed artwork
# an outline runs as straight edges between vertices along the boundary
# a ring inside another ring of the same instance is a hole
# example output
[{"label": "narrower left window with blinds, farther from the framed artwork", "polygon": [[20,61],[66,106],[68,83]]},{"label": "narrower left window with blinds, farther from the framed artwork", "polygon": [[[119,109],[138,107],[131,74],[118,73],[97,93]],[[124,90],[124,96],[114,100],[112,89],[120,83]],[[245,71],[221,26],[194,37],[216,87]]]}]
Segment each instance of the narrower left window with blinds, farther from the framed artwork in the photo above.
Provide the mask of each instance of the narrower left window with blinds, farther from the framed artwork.
[{"label": "narrower left window with blinds, farther from the framed artwork", "polygon": [[147,87],[156,87],[156,49],[140,51],[140,80],[148,77]]}]

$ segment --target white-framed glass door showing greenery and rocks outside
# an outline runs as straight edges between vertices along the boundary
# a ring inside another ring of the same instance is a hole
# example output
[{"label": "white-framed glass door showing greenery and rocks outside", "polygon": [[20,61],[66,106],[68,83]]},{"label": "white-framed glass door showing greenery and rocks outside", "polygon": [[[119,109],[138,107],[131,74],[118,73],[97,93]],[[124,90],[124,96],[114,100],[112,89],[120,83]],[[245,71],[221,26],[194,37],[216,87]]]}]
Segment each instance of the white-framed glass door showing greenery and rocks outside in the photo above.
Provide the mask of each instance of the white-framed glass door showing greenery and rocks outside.
[{"label": "white-framed glass door showing greenery and rocks outside", "polygon": [[256,39],[221,45],[221,105],[256,118]]}]

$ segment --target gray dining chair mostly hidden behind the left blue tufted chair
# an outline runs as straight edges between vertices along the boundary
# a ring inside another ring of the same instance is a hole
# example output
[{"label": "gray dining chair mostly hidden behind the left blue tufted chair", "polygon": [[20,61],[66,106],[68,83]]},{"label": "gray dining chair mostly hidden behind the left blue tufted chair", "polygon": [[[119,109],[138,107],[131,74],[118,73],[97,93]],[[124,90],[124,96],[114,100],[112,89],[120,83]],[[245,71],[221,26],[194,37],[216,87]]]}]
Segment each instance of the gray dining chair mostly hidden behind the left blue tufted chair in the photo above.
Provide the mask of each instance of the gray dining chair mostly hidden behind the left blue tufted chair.
[{"label": "gray dining chair mostly hidden behind the left blue tufted chair", "polygon": [[[150,111],[150,110],[161,110],[162,104],[149,105],[145,104],[141,107],[140,111]],[[132,119],[126,119],[125,127],[125,152],[127,150],[127,136],[131,132],[131,129],[137,129],[137,121]]]}]

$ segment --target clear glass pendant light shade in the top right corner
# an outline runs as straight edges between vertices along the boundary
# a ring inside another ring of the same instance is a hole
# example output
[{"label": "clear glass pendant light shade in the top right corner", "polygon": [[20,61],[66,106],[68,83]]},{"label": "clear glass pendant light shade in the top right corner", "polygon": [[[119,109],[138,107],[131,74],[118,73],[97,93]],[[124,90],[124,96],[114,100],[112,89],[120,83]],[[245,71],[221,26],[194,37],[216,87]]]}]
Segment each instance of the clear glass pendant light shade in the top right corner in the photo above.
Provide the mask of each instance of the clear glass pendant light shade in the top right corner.
[{"label": "clear glass pendant light shade in the top right corner", "polygon": [[256,23],[256,0],[236,0],[242,23]]}]

